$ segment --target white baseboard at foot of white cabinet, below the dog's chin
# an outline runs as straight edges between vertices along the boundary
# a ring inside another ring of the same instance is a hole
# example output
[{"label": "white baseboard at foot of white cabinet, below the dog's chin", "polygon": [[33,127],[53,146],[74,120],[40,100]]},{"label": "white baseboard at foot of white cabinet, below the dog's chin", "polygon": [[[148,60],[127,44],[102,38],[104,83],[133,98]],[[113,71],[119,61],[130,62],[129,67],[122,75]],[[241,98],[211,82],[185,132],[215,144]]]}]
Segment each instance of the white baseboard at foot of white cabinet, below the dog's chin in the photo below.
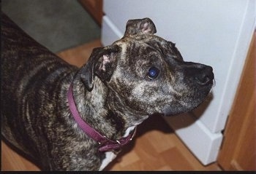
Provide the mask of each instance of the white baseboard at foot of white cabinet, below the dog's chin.
[{"label": "white baseboard at foot of white cabinet, below the dog's chin", "polygon": [[217,160],[222,133],[211,133],[203,122],[192,114],[165,117],[165,120],[203,165]]}]

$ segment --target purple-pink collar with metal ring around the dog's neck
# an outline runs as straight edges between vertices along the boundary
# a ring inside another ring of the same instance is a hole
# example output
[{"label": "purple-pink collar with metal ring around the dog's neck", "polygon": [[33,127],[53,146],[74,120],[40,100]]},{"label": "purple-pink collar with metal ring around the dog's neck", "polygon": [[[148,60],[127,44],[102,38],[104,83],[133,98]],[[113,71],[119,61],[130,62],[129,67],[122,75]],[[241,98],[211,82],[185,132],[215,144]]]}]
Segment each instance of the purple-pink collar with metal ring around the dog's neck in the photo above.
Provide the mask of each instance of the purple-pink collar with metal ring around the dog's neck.
[{"label": "purple-pink collar with metal ring around the dog's neck", "polygon": [[97,141],[99,143],[99,151],[112,151],[116,149],[118,149],[118,151],[121,151],[122,146],[129,143],[129,141],[132,141],[132,138],[135,136],[136,127],[135,130],[132,131],[132,133],[129,133],[129,135],[125,138],[121,138],[120,140],[116,141],[108,139],[105,135],[101,135],[100,133],[97,132],[97,130],[94,130],[94,128],[92,128],[89,124],[83,121],[83,119],[80,117],[78,109],[75,106],[75,100],[72,93],[72,85],[70,85],[69,87],[67,99],[69,102],[69,109],[75,121],[78,123],[79,127],[83,130],[84,133],[86,133],[94,141]]}]

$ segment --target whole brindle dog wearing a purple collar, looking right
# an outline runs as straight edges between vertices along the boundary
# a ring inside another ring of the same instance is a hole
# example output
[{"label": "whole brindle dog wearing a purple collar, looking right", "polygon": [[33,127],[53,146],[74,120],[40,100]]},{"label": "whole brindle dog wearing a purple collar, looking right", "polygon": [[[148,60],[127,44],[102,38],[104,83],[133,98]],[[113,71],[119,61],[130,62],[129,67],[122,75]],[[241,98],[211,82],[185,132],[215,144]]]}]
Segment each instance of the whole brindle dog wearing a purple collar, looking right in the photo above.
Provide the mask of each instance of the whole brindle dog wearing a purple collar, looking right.
[{"label": "whole brindle dog wearing a purple collar, looking right", "polygon": [[214,84],[151,19],[71,66],[1,17],[1,134],[42,170],[103,170],[148,116],[191,111]]}]

